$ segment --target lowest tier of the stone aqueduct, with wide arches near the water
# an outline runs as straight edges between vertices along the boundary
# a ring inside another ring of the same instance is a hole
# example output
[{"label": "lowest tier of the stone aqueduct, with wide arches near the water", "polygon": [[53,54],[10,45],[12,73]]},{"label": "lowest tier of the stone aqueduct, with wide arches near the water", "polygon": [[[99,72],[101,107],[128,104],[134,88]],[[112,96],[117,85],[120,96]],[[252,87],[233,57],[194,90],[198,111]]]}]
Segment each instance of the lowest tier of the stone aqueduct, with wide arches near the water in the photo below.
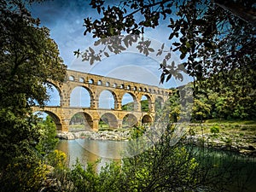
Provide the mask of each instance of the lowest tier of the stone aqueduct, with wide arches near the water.
[{"label": "lowest tier of the stone aqueduct, with wide arches near the water", "polygon": [[123,111],[112,109],[92,109],[92,108],[63,108],[63,107],[44,107],[32,108],[33,112],[42,111],[48,113],[55,121],[57,131],[67,132],[75,114],[84,115],[84,125],[93,131],[98,131],[100,121],[105,121],[109,127],[116,129],[124,125],[143,125],[154,121],[154,113],[140,111]]}]

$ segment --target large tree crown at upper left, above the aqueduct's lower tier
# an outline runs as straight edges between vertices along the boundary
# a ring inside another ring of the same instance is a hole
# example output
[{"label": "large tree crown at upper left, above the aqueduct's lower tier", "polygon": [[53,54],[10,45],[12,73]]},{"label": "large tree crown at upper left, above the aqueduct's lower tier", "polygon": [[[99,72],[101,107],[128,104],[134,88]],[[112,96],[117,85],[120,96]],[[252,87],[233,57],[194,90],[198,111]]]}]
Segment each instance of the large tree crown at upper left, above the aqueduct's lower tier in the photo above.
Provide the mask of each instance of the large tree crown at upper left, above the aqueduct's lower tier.
[{"label": "large tree crown at upper left, above the aqueduct's lower tier", "polygon": [[43,84],[65,77],[66,66],[49,38],[49,29],[39,27],[39,20],[32,18],[23,2],[1,1],[0,5],[2,107],[26,108],[34,100],[42,105],[47,99]]}]

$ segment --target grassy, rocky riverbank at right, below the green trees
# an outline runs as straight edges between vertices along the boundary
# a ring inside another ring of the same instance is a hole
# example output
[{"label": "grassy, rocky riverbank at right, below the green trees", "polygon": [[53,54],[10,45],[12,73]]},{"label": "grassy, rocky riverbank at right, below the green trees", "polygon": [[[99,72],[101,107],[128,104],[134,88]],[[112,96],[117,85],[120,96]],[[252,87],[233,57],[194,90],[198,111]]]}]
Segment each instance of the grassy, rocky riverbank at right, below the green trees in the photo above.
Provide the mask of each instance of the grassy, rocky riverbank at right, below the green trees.
[{"label": "grassy, rocky riverbank at right, below the green trees", "polygon": [[230,122],[189,125],[189,140],[207,148],[256,157],[256,125]]}]

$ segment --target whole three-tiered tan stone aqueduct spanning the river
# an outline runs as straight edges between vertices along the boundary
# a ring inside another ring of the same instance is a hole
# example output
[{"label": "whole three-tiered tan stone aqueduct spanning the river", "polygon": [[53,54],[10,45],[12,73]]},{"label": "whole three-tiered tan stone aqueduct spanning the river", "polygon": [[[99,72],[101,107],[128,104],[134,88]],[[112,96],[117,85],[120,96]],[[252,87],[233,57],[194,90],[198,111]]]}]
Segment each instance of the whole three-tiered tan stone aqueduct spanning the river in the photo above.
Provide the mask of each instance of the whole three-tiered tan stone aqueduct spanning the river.
[{"label": "whole three-tiered tan stone aqueduct spanning the river", "polygon": [[[34,111],[44,111],[48,113],[55,121],[57,131],[67,132],[69,124],[74,114],[83,113],[87,126],[93,131],[98,130],[99,121],[104,117],[108,118],[110,127],[119,128],[122,126],[123,119],[131,119],[133,124],[142,125],[154,121],[155,105],[157,99],[161,104],[166,102],[171,90],[159,88],[157,86],[139,84],[131,81],[113,79],[100,75],[81,73],[73,70],[67,70],[66,80],[61,84],[53,83],[59,91],[60,105],[46,106],[44,108],[33,108]],[[83,87],[90,94],[90,107],[71,107],[70,96],[76,87]],[[103,90],[112,93],[114,99],[114,108],[99,108],[99,97]],[[134,108],[132,111],[122,110],[122,98],[128,93],[132,96]],[[141,99],[146,96],[148,99],[148,112],[141,110]]]}]

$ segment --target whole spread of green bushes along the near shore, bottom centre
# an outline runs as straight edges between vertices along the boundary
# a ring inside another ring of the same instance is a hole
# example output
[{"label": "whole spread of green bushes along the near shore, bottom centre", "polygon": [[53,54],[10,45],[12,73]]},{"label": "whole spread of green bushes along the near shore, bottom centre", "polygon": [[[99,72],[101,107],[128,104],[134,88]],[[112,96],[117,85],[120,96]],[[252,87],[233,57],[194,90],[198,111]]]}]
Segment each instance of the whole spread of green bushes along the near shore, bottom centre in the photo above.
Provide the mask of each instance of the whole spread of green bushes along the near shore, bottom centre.
[{"label": "whole spread of green bushes along the near shore, bottom centre", "polygon": [[[169,138],[171,139],[171,138]],[[111,163],[96,173],[96,165],[79,162],[70,172],[73,191],[171,191],[195,189],[195,161],[183,144],[160,141],[142,154]]]}]

